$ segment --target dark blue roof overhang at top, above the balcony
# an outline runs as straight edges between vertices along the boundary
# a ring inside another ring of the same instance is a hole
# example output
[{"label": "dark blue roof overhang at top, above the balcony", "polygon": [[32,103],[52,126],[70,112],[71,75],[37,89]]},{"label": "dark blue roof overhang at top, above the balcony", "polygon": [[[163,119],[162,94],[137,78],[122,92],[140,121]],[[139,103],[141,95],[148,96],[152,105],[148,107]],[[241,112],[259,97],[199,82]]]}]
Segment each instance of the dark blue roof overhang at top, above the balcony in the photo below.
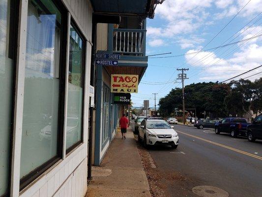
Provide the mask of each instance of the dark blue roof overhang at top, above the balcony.
[{"label": "dark blue roof overhang at top, above the balcony", "polygon": [[90,0],[94,13],[153,18],[155,0]]}]

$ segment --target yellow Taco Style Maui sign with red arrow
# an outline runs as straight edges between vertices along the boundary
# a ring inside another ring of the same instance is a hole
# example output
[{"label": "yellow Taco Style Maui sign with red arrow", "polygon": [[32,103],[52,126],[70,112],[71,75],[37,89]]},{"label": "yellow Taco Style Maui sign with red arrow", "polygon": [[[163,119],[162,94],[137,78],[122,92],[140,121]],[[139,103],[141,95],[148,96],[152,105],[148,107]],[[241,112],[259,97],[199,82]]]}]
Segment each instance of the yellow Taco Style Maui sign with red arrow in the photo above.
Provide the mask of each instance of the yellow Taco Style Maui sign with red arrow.
[{"label": "yellow Taco Style Maui sign with red arrow", "polygon": [[138,93],[138,75],[112,74],[112,93]]}]

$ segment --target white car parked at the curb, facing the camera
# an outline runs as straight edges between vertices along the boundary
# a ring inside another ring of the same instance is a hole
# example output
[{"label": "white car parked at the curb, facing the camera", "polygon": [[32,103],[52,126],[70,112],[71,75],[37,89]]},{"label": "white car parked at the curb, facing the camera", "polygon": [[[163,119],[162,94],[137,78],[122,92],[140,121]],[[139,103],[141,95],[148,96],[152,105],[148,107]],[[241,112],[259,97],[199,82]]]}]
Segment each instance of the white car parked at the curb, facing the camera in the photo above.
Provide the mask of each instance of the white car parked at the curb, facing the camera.
[{"label": "white car parked at the curb, facing the camera", "polygon": [[143,140],[145,147],[159,144],[177,148],[178,135],[173,128],[165,120],[146,118],[139,127],[138,140]]}]

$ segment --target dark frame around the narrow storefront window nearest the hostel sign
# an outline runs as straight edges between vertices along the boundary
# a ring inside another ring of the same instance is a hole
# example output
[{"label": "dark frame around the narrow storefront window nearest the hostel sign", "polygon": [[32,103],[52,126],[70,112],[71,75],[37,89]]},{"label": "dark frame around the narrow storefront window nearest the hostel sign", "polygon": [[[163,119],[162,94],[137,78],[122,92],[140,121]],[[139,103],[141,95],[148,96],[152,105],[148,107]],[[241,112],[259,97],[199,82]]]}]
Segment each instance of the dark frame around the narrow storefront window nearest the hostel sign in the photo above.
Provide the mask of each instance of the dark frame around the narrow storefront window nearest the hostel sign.
[{"label": "dark frame around the narrow storefront window nearest the hostel sign", "polygon": [[[85,102],[85,73],[86,73],[86,51],[87,51],[87,40],[85,38],[85,36],[83,35],[83,33],[80,31],[80,28],[78,27],[77,23],[75,22],[75,20],[73,19],[73,17],[71,16],[70,18],[70,24],[68,24],[68,27],[70,28],[70,26],[72,26],[74,28],[74,30],[78,33],[78,35],[80,36],[80,38],[82,39],[82,44],[83,44],[83,52],[82,52],[82,66],[83,66],[83,70],[82,70],[82,73],[81,73],[81,87],[83,88],[83,94],[82,94],[82,122],[81,122],[81,139],[73,144],[72,146],[68,147],[66,150],[65,150],[65,155],[68,156],[70,155],[70,153],[72,152],[72,150],[74,150],[76,147],[78,147],[79,145],[81,145],[83,143],[83,139],[84,139],[84,102]],[[70,45],[70,31],[69,31],[69,40],[68,40],[68,44]],[[68,51],[69,53],[70,51]],[[68,73],[66,73],[67,75]],[[68,81],[66,81],[66,83],[69,83]],[[68,94],[68,92],[67,92]],[[67,103],[65,103],[67,104]],[[66,114],[67,116],[67,114]],[[67,118],[67,117],[66,117]],[[66,131],[65,131],[66,132]],[[66,143],[66,138],[64,139],[65,140],[65,143]]]}]

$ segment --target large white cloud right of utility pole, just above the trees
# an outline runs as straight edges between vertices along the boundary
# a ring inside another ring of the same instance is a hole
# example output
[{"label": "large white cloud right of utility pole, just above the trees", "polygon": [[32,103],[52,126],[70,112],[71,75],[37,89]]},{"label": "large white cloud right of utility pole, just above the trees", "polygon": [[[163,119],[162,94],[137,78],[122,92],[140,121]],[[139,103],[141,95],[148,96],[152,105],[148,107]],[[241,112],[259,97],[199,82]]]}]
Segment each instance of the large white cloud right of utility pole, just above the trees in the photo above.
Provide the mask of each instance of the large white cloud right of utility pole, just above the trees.
[{"label": "large white cloud right of utility pole, just above the trees", "polygon": [[[260,40],[257,39],[257,42],[260,42]],[[200,80],[221,81],[223,79],[228,79],[237,74],[240,74],[245,70],[249,70],[261,65],[262,46],[260,46],[257,43],[251,42],[241,45],[239,47],[240,47],[240,51],[235,52],[233,56],[229,59],[219,58],[213,52],[201,52],[198,53],[197,55],[196,54],[187,55],[186,60],[188,64],[193,67],[201,67],[203,69],[206,68],[206,70],[202,71],[198,75]],[[187,53],[192,53],[197,51],[199,50],[198,49],[189,50]],[[230,53],[230,51],[228,51],[228,53]],[[250,72],[245,75],[242,75],[239,78],[245,78],[247,76],[258,73],[260,71],[262,71],[262,68],[256,69],[254,70],[254,72]],[[257,78],[258,77],[260,76],[257,75]],[[236,80],[239,78],[236,78]],[[254,80],[255,78],[253,78],[252,80]]]}]

